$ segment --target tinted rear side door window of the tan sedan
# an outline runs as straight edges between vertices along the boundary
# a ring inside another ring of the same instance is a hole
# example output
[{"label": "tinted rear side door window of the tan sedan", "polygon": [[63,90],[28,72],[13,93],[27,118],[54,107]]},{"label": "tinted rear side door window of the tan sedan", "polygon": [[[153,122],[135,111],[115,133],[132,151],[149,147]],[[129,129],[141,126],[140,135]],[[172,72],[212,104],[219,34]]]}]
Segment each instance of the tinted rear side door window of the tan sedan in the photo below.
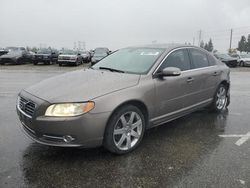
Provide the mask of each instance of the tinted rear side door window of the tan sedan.
[{"label": "tinted rear side door window of the tan sedan", "polygon": [[191,49],[190,54],[193,60],[194,68],[202,68],[209,66],[207,55],[200,51]]}]

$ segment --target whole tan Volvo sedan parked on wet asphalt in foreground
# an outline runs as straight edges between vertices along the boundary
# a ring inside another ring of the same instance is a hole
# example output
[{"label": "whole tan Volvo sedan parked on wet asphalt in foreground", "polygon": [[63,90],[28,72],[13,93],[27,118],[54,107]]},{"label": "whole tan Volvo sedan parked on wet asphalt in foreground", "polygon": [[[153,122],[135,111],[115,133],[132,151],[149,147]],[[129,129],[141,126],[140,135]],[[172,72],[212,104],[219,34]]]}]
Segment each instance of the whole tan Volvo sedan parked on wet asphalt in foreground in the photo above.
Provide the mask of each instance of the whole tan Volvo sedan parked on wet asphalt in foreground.
[{"label": "whole tan Volvo sedan parked on wet asphalt in foreground", "polygon": [[22,90],[17,113],[24,132],[38,143],[104,145],[124,154],[148,128],[204,107],[225,109],[229,74],[225,64],[195,46],[129,47],[89,69]]}]

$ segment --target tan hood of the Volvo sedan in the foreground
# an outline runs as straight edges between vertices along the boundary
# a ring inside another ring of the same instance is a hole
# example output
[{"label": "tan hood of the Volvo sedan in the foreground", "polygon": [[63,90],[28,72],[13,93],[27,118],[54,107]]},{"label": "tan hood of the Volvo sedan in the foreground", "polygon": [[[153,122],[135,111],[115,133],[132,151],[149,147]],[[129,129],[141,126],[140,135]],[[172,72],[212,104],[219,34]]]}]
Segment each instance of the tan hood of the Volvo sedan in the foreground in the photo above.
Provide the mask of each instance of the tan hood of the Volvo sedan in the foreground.
[{"label": "tan hood of the Volvo sedan in the foreground", "polygon": [[26,92],[50,103],[89,101],[138,84],[140,75],[83,69],[44,80]]}]

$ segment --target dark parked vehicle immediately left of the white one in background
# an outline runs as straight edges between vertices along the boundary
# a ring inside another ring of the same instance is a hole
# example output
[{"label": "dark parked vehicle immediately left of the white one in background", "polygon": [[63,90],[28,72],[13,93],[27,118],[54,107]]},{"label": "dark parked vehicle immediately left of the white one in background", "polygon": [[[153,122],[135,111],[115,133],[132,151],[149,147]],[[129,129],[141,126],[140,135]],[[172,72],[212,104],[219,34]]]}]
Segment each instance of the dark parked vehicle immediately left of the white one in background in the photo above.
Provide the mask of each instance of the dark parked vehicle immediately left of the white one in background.
[{"label": "dark parked vehicle immediately left of the white one in background", "polygon": [[38,63],[44,63],[45,65],[50,65],[57,62],[58,52],[52,49],[40,49],[35,54],[35,58],[33,61],[34,65]]}]

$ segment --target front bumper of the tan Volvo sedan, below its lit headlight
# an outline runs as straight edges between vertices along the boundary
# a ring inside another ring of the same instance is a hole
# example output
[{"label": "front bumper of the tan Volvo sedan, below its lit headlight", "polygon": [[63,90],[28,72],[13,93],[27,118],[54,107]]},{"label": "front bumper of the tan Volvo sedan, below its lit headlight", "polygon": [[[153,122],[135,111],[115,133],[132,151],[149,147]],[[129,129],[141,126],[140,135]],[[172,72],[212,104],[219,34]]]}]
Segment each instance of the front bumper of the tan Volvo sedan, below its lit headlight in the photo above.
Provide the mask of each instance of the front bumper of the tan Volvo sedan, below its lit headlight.
[{"label": "front bumper of the tan Volvo sedan, below its lit headlight", "polygon": [[[37,104],[33,117],[28,117],[17,104],[21,128],[32,140],[61,147],[96,147],[102,145],[105,126],[110,113],[87,113],[76,117],[46,117],[50,105],[22,91],[20,96]],[[68,139],[70,138],[70,139]]]}]

